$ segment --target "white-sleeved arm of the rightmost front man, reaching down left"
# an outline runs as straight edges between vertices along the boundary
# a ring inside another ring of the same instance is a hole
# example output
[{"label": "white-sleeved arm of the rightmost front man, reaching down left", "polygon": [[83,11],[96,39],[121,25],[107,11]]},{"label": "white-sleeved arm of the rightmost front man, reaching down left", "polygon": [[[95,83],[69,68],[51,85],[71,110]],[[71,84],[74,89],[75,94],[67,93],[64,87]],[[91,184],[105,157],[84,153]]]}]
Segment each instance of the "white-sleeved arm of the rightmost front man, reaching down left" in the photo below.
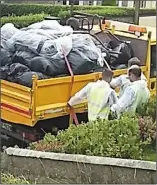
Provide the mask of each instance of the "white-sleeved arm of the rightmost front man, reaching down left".
[{"label": "white-sleeved arm of the rightmost front man, reaching down left", "polygon": [[135,101],[135,98],[135,92],[132,90],[132,88],[127,87],[124,94],[121,96],[121,98],[119,98],[117,103],[112,105],[111,111],[117,112],[117,114],[124,112],[132,105],[132,103]]}]

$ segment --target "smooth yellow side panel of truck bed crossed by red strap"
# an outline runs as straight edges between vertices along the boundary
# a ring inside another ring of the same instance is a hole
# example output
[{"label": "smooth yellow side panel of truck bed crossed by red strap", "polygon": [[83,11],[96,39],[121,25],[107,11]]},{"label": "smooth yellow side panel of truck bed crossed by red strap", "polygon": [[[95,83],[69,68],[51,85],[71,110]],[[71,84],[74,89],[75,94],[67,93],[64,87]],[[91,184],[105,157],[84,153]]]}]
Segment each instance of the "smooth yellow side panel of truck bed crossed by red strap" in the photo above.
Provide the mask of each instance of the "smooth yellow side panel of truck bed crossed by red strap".
[{"label": "smooth yellow side panel of truck bed crossed by red strap", "polygon": [[[87,83],[99,78],[99,73],[80,75],[74,77],[72,95],[84,87]],[[37,83],[37,107],[56,103],[65,103],[70,99],[70,86],[72,78],[56,78],[40,80]]]}]

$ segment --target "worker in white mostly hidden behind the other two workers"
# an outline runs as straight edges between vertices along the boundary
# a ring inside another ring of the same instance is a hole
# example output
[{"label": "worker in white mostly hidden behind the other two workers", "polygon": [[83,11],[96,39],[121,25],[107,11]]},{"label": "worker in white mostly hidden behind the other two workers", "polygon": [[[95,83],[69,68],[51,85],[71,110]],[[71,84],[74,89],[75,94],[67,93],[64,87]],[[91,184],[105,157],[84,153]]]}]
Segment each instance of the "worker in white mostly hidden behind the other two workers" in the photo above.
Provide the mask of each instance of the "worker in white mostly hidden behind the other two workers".
[{"label": "worker in white mostly hidden behind the other two workers", "polygon": [[[135,67],[139,68],[140,65],[141,65],[141,61],[137,57],[131,58],[128,61],[128,68],[129,69],[135,68]],[[141,80],[144,81],[147,85],[147,79],[144,76],[143,72],[141,73]],[[114,89],[117,87],[120,88],[119,97],[121,97],[122,94],[124,93],[126,87],[128,85],[130,85],[130,83],[131,82],[128,78],[128,74],[123,74],[123,75],[120,75],[119,77],[113,78],[110,85]]]}]

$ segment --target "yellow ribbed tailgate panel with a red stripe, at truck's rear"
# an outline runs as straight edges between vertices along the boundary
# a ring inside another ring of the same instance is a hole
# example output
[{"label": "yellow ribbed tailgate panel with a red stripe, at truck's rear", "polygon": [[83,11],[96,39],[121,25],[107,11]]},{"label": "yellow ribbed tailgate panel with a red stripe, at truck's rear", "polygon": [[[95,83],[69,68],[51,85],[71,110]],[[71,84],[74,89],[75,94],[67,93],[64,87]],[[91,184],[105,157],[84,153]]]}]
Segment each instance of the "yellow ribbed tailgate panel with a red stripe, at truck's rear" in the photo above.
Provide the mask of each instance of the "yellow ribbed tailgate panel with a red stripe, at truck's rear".
[{"label": "yellow ribbed tailgate panel with a red stripe, at truck's rear", "polygon": [[31,89],[1,80],[1,116],[13,123],[31,123]]}]

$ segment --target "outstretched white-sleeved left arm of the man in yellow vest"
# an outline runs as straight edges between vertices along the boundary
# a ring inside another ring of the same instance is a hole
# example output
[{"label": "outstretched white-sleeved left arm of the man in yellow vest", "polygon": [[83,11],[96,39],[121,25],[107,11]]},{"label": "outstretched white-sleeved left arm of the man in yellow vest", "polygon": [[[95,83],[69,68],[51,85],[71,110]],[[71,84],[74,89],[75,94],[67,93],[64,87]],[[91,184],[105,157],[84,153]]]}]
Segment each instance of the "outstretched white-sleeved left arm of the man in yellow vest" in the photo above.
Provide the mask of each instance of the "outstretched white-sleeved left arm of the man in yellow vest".
[{"label": "outstretched white-sleeved left arm of the man in yellow vest", "polygon": [[87,99],[88,92],[91,87],[91,83],[87,84],[83,89],[81,89],[79,92],[77,92],[68,102],[70,106],[77,105],[81,103],[83,100]]}]

